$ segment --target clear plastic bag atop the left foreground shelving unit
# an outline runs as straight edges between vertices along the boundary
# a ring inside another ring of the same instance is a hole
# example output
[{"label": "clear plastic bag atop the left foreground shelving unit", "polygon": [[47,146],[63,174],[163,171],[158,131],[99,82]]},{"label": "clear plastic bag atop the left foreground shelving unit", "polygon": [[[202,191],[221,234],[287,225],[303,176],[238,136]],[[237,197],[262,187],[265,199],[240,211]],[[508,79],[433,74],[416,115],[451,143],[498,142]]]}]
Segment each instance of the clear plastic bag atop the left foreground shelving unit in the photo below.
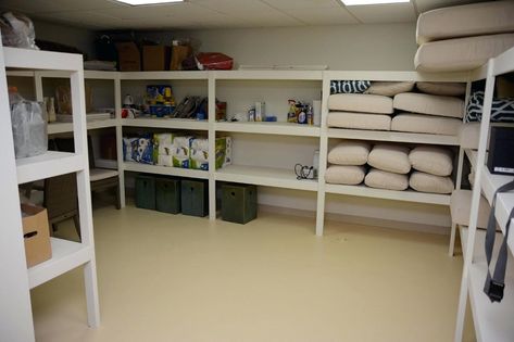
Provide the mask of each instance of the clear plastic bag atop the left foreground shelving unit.
[{"label": "clear plastic bag atop the left foreground shelving unit", "polygon": [[25,15],[3,13],[0,16],[2,43],[4,47],[39,50],[33,22]]}]

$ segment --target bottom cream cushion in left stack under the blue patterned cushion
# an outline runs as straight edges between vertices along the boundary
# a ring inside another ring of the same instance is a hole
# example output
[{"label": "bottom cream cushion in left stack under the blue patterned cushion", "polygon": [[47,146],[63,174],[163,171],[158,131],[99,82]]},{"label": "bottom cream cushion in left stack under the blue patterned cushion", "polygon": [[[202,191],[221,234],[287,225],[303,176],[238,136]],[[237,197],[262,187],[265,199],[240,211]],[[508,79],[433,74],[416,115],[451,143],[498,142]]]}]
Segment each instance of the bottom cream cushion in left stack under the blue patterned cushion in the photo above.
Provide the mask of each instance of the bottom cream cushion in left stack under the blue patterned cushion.
[{"label": "bottom cream cushion in left stack under the blue patterned cushion", "polygon": [[391,116],[384,114],[330,112],[327,117],[328,127],[389,130]]}]

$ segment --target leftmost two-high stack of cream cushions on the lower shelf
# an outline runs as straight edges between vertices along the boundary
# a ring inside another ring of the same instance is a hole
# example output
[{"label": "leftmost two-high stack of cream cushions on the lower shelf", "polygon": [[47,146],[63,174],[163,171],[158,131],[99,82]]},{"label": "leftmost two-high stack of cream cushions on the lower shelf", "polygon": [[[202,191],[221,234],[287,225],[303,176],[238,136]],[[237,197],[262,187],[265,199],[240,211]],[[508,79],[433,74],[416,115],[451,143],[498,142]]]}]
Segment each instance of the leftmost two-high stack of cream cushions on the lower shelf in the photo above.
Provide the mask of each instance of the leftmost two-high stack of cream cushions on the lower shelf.
[{"label": "leftmost two-high stack of cream cushions on the lower shelf", "polygon": [[328,152],[325,181],[329,183],[356,186],[364,180],[365,164],[371,144],[365,141],[344,140]]}]

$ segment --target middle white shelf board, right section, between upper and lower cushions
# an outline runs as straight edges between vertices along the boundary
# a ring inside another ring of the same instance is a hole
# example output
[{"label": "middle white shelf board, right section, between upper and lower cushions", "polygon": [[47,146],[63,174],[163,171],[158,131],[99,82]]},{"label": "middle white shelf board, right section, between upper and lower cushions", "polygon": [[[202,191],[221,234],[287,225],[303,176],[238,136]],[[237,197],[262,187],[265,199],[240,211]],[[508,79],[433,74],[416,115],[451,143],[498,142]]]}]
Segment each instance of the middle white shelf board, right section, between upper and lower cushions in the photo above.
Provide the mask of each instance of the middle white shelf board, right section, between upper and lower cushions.
[{"label": "middle white shelf board, right section, between upper and lower cushions", "polygon": [[328,138],[459,145],[459,137],[390,130],[329,128]]}]

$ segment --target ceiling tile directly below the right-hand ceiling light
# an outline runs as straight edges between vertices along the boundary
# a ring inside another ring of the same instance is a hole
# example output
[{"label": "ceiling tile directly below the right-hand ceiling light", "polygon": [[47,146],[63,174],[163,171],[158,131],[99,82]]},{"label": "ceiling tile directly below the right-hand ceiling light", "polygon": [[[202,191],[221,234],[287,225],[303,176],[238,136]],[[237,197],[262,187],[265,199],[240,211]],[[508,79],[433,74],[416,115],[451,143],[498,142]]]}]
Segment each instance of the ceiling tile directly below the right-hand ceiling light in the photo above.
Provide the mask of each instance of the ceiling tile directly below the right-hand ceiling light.
[{"label": "ceiling tile directly below the right-hand ceiling light", "polygon": [[346,9],[364,24],[414,22],[414,5],[409,3],[390,3],[376,5],[352,5]]}]

